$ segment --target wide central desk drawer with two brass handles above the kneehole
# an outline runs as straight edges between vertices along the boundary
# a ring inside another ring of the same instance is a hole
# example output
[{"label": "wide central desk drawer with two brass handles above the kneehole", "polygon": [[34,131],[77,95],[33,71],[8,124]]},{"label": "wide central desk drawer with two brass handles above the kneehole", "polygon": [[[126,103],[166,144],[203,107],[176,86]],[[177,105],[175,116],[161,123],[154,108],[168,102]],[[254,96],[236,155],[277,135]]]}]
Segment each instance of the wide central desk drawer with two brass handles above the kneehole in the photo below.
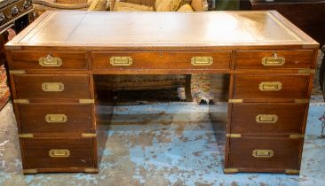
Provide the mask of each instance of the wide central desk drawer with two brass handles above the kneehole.
[{"label": "wide central desk drawer with two brass handles above the kneehole", "polygon": [[94,69],[229,69],[230,51],[92,52]]}]

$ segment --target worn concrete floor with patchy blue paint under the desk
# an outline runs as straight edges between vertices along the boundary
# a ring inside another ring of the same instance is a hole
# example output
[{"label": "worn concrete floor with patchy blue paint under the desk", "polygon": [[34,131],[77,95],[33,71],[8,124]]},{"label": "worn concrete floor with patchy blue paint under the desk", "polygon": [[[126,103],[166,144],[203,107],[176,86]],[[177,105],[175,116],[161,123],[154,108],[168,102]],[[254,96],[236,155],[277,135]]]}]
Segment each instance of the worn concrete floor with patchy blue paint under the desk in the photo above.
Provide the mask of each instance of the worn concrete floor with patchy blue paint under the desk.
[{"label": "worn concrete floor with patchy blue paint under the desk", "polygon": [[[106,107],[99,113],[105,116]],[[115,107],[99,126],[99,174],[22,175],[12,105],[0,112],[0,185],[325,185],[325,105],[311,105],[300,175],[223,174],[226,105]]]}]

